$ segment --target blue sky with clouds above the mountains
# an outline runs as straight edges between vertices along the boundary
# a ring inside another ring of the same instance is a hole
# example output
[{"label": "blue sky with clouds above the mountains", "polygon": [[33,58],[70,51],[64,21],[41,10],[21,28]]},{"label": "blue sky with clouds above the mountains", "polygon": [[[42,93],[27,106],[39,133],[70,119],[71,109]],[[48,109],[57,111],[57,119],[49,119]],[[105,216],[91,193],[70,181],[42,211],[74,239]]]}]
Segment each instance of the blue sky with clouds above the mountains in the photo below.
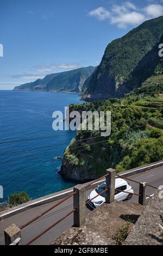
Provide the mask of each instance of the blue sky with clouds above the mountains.
[{"label": "blue sky with clouds above the mountains", "polygon": [[106,45],[163,15],[163,0],[1,0],[0,89],[96,66]]}]

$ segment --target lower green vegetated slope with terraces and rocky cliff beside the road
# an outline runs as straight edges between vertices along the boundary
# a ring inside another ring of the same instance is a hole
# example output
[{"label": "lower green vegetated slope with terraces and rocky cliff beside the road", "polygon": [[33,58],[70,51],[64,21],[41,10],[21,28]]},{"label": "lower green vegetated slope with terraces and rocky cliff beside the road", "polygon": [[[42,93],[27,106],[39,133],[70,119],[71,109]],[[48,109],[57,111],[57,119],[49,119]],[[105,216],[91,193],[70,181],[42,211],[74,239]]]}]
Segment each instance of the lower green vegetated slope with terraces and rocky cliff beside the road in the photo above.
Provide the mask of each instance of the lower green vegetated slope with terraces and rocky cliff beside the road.
[{"label": "lower green vegetated slope with terraces and rocky cliff beside the road", "polygon": [[[111,135],[93,138],[100,132],[78,131],[65,150],[60,171],[64,178],[89,180],[101,176],[107,168],[121,172],[162,159],[163,132],[157,128],[163,124],[162,96],[128,96],[70,105],[70,109],[111,111]],[[96,142],[101,143],[92,144]]]}]

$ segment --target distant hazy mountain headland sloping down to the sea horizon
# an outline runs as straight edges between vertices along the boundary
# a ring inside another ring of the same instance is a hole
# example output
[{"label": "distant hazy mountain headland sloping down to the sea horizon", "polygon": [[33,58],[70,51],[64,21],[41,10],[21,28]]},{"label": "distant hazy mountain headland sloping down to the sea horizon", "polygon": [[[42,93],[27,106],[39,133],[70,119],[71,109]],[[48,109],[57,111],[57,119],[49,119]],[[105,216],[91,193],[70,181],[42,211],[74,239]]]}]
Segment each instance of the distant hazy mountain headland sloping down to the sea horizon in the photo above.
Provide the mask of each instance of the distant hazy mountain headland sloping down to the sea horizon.
[{"label": "distant hazy mountain headland sloping down to the sea horizon", "polygon": [[45,76],[35,82],[16,86],[14,90],[43,91],[43,92],[75,92],[82,91],[85,80],[91,76],[95,67],[74,69]]}]

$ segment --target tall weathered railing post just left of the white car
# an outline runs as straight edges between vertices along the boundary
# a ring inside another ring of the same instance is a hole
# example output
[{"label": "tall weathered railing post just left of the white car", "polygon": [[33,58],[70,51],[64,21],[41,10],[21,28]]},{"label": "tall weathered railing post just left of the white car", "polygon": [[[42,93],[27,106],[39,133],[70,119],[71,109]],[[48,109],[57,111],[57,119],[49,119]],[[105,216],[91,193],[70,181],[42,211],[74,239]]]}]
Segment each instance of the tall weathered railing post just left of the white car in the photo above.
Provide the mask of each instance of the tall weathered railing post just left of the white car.
[{"label": "tall weathered railing post just left of the white car", "polygon": [[73,192],[77,192],[73,196],[73,225],[79,228],[85,224],[85,185],[74,186]]}]

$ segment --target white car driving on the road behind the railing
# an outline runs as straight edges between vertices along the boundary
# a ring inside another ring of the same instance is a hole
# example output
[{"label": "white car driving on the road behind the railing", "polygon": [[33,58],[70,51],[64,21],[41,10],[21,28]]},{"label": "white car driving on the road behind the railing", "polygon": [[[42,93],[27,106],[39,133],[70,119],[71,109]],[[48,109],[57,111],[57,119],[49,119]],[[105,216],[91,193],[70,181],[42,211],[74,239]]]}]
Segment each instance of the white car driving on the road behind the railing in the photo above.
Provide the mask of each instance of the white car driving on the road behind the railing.
[{"label": "white car driving on the road behind the railing", "polygon": [[[121,178],[116,178],[115,179],[115,188],[117,190],[123,190],[123,191],[127,191],[128,193],[124,193],[124,192],[120,192],[120,191],[115,191],[115,200],[117,201],[122,201],[122,200],[130,200],[131,197],[133,196],[130,193],[134,193],[131,185],[128,184],[128,182],[126,180],[123,180]],[[101,193],[102,191],[105,190],[105,183],[103,183],[102,185],[98,186],[95,190],[93,190],[89,196],[88,196],[88,200],[91,200],[91,198],[97,196],[97,194]],[[101,194],[100,196],[96,197],[95,199],[93,199],[91,202],[89,202],[89,206],[92,209],[97,208],[99,205],[103,204],[105,202],[105,194],[106,192],[104,192],[103,194]]]}]

